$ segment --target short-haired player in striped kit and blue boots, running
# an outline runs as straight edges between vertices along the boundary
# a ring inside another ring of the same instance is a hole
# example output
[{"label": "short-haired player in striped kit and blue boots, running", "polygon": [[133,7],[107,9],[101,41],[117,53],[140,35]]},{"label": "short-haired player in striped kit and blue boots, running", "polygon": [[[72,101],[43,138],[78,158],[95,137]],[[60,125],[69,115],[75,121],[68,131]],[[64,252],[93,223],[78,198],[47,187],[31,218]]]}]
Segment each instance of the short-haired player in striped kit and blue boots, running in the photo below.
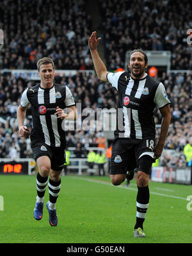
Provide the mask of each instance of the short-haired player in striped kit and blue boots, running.
[{"label": "short-haired player in striped kit and blue boots, running", "polygon": [[[22,93],[20,106],[17,109],[19,134],[26,138],[28,127],[24,125],[26,109],[31,104],[33,129],[31,131],[31,149],[38,166],[36,175],[36,205],[33,212],[36,220],[41,220],[44,210],[44,195],[47,183],[49,187],[49,223],[58,224],[56,200],[60,194],[61,172],[65,163],[64,119],[76,120],[76,104],[67,86],[54,83],[54,63],[44,57],[37,62],[40,83],[27,88]],[[68,113],[63,109],[67,108]],[[49,182],[48,182],[49,177]]]}]

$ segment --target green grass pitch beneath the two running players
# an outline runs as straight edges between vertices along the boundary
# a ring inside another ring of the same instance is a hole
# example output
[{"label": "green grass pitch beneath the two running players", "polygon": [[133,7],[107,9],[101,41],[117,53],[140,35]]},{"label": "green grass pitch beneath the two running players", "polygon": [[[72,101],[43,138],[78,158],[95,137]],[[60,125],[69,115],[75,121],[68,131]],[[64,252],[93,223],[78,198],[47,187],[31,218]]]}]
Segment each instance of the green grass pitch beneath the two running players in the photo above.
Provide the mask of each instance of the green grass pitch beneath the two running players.
[{"label": "green grass pitch beneath the two running players", "polygon": [[45,205],[42,220],[33,218],[36,176],[1,175],[0,243],[191,243],[191,186],[150,182],[149,188],[146,237],[134,238],[136,180],[127,188],[112,186],[109,177],[62,176],[58,226],[51,227]]}]

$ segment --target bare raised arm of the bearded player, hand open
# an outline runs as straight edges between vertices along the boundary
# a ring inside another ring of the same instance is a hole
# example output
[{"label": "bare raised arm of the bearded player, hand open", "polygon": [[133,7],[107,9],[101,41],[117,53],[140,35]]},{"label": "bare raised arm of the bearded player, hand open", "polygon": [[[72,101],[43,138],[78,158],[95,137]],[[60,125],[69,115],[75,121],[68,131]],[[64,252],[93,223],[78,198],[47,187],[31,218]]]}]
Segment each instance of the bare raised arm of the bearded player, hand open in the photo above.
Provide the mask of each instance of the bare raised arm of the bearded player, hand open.
[{"label": "bare raised arm of the bearded player, hand open", "polygon": [[99,52],[97,51],[97,45],[99,44],[101,38],[96,38],[96,32],[94,31],[89,38],[88,45],[90,48],[90,52],[92,54],[93,65],[95,67],[95,71],[100,80],[108,82],[107,74],[108,70],[104,65],[103,61],[99,56]]}]

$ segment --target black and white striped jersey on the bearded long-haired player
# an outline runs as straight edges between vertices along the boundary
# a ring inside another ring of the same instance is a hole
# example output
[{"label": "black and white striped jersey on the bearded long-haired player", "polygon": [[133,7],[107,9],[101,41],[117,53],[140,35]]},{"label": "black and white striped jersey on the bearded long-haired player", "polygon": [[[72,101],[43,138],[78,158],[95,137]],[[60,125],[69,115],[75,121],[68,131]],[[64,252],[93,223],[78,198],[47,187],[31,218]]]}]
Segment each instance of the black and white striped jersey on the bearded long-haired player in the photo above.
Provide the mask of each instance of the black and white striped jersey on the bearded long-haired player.
[{"label": "black and white striped jersey on the bearded long-haired player", "polygon": [[145,75],[132,79],[128,72],[107,74],[118,90],[115,138],[155,138],[154,109],[170,104],[162,83]]}]

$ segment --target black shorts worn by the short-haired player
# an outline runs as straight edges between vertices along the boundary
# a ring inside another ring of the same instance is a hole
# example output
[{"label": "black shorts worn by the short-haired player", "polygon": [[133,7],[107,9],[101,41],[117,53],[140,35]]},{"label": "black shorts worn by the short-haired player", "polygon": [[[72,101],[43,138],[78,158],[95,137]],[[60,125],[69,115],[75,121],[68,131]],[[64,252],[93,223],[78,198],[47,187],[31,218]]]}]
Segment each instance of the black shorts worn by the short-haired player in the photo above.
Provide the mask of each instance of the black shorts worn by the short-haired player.
[{"label": "black shorts worn by the short-haired player", "polygon": [[51,169],[54,171],[61,171],[63,170],[63,164],[66,163],[65,161],[65,146],[63,147],[50,147],[45,143],[39,145],[33,145],[31,147],[33,150],[33,156],[36,159],[40,156],[48,156],[51,160]]}]

